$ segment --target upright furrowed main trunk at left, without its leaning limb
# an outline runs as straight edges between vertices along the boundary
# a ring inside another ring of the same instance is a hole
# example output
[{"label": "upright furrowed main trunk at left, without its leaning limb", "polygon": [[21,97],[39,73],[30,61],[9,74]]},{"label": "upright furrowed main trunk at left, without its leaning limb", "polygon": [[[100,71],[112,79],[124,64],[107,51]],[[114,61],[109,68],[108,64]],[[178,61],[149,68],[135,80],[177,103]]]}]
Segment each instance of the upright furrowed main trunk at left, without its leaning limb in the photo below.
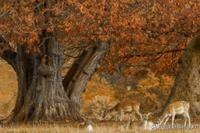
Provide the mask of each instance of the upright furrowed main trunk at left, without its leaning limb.
[{"label": "upright furrowed main trunk at left, without its leaning limb", "polygon": [[62,46],[53,38],[44,45],[42,58],[28,54],[18,46],[18,97],[7,121],[80,120],[76,104],[69,99],[62,85]]}]

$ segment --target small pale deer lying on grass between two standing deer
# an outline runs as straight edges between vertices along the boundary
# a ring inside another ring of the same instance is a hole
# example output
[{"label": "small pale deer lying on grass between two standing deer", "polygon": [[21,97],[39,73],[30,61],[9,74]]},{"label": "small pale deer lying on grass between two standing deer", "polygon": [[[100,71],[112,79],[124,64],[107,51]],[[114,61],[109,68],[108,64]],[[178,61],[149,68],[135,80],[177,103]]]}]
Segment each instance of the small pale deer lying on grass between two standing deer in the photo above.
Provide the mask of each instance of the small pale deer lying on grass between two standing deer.
[{"label": "small pale deer lying on grass between two standing deer", "polygon": [[152,115],[153,113],[147,113],[143,115],[143,120],[141,123],[141,127],[145,130],[152,130],[155,127],[155,124],[152,121],[149,120],[149,116]]}]

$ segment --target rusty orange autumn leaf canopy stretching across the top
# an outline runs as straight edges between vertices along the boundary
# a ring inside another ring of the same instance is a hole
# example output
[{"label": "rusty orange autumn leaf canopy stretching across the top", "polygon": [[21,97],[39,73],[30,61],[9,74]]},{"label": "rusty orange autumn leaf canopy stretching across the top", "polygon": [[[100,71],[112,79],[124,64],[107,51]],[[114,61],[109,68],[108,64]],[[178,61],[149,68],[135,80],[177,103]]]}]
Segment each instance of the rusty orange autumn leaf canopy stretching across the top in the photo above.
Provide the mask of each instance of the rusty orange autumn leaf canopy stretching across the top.
[{"label": "rusty orange autumn leaf canopy stretching across the top", "polygon": [[[100,71],[124,75],[152,68],[174,72],[199,30],[196,0],[0,0],[0,35],[39,52],[40,35],[52,32],[66,48],[109,40]],[[45,7],[45,8],[44,8]]]}]

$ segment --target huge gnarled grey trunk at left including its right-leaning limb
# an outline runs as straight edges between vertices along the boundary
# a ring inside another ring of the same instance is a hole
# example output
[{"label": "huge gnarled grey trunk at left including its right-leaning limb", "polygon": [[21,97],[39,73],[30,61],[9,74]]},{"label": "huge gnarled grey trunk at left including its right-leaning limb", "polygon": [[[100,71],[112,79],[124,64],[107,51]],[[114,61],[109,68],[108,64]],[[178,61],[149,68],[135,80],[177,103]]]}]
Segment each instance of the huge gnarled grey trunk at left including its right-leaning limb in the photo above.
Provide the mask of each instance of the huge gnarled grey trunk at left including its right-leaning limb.
[{"label": "huge gnarled grey trunk at left including its right-leaning limb", "polygon": [[14,58],[8,58],[5,50],[1,55],[15,67],[18,77],[16,105],[5,122],[82,119],[82,92],[105,55],[108,43],[97,43],[84,50],[63,81],[63,47],[54,37],[47,36],[41,53],[27,53],[26,46],[18,45]]}]

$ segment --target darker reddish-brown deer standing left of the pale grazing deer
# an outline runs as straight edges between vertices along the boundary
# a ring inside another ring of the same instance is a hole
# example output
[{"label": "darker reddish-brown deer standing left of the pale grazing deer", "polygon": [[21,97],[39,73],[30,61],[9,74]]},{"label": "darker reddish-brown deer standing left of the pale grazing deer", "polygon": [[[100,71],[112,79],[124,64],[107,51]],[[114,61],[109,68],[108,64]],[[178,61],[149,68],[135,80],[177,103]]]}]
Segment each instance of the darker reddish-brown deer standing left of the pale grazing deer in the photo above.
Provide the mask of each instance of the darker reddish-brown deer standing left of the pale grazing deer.
[{"label": "darker reddish-brown deer standing left of the pale grazing deer", "polygon": [[136,113],[140,120],[142,120],[142,114],[140,113],[140,103],[137,101],[131,101],[131,100],[122,100],[117,105],[117,111],[118,111],[118,120],[122,121],[124,119],[125,113]]}]

